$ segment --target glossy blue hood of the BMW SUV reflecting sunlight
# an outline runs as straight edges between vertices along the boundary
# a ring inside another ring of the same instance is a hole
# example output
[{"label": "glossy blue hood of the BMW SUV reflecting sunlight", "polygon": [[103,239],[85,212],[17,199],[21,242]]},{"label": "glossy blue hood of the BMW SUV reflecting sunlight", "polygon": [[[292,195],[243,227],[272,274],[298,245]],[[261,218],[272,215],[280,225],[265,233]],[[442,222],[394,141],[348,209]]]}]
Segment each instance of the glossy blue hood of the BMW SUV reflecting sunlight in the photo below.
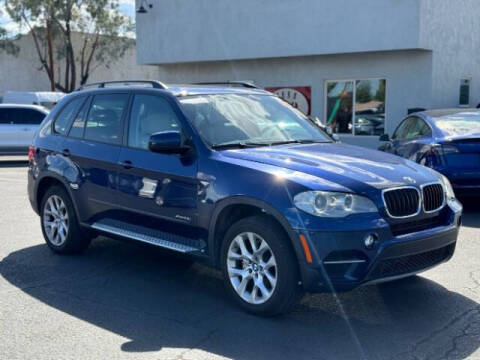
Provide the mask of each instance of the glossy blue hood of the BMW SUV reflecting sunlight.
[{"label": "glossy blue hood of the BMW SUV reflecting sunlight", "polygon": [[228,158],[294,170],[335,183],[354,192],[369,192],[437,181],[428,168],[363,147],[327,143],[226,150]]}]

